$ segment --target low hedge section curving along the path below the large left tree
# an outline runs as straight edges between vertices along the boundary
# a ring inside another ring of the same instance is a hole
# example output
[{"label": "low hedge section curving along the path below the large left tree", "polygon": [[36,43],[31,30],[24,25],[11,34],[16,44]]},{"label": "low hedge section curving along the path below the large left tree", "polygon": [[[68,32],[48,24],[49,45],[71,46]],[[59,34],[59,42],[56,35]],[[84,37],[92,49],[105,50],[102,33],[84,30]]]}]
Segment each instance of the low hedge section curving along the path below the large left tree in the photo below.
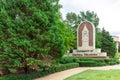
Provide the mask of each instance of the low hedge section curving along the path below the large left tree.
[{"label": "low hedge section curving along the path below the large left tree", "polygon": [[51,66],[49,68],[39,69],[38,73],[34,74],[12,74],[0,77],[0,80],[33,80],[38,77],[42,77],[54,72],[63,71],[70,68],[79,67],[78,63],[68,63],[68,64],[60,64],[58,66]]}]

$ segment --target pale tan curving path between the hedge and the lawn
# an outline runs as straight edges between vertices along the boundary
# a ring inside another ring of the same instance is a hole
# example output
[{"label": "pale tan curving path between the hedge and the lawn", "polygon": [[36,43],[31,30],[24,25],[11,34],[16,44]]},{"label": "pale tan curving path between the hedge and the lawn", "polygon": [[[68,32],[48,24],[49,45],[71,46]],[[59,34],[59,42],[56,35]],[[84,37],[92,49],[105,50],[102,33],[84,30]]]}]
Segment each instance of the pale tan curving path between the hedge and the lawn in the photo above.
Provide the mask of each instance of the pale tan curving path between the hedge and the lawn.
[{"label": "pale tan curving path between the hedge and the lawn", "polygon": [[83,72],[88,69],[93,69],[93,70],[120,69],[120,64],[113,65],[113,66],[103,66],[103,67],[79,67],[79,68],[74,68],[74,69],[69,69],[69,70],[53,73],[48,76],[45,76],[42,78],[37,78],[34,80],[64,80],[65,78],[67,78],[69,76]]}]

